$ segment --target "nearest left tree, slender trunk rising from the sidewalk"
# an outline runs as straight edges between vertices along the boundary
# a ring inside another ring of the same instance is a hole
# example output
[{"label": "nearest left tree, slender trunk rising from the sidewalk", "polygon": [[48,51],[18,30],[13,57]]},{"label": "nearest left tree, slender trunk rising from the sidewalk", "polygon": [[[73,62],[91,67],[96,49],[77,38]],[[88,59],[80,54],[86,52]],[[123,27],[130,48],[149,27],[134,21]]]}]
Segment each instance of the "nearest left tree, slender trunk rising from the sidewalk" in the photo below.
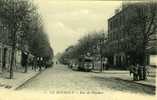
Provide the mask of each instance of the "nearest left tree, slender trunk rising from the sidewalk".
[{"label": "nearest left tree, slender trunk rising from the sidewalk", "polygon": [[17,42],[17,34],[26,21],[30,13],[34,11],[31,2],[26,0],[1,0],[0,1],[0,18],[2,23],[7,27],[12,46],[10,79],[13,78],[13,63]]}]

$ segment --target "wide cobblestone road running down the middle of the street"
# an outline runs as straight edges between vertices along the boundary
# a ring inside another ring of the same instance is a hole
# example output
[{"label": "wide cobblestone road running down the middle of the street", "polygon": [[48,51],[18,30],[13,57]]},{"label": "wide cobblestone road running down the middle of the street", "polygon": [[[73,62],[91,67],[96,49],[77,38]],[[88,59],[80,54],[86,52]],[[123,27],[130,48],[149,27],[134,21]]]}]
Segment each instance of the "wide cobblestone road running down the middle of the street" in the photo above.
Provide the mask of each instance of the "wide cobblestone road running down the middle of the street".
[{"label": "wide cobblestone road running down the middle of the street", "polygon": [[94,93],[104,93],[109,91],[122,91],[128,93],[139,93],[154,95],[155,90],[136,83],[130,83],[113,78],[115,74],[92,73],[72,71],[67,66],[55,65],[42,72],[36,78],[30,80],[20,91],[41,91],[54,93],[92,91]]}]

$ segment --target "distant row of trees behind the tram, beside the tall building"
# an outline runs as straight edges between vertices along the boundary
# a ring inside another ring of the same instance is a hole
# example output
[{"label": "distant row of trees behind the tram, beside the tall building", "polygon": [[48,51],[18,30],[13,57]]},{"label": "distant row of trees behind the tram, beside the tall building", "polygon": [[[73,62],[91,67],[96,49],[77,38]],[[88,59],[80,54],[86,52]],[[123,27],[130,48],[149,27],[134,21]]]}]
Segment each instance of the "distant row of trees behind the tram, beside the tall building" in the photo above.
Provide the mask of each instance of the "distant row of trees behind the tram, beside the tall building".
[{"label": "distant row of trees behind the tram, beside the tall building", "polygon": [[69,46],[60,57],[61,63],[68,63],[72,59],[78,59],[81,56],[96,56],[101,53],[102,44],[105,43],[104,32],[92,32],[82,37],[77,44]]}]

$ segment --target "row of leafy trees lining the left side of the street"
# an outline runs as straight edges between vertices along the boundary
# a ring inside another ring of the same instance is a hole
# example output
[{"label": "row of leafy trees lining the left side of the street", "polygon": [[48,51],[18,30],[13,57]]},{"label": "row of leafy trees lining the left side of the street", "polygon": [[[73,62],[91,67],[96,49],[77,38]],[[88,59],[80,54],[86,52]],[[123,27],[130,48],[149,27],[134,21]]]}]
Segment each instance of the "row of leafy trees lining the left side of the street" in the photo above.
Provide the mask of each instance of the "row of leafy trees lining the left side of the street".
[{"label": "row of leafy trees lining the left side of the street", "polygon": [[[52,59],[53,50],[44,31],[42,18],[30,0],[0,0],[1,42],[12,47],[10,78],[16,49],[25,51],[25,45],[34,56]],[[2,40],[7,40],[2,41]]]}]

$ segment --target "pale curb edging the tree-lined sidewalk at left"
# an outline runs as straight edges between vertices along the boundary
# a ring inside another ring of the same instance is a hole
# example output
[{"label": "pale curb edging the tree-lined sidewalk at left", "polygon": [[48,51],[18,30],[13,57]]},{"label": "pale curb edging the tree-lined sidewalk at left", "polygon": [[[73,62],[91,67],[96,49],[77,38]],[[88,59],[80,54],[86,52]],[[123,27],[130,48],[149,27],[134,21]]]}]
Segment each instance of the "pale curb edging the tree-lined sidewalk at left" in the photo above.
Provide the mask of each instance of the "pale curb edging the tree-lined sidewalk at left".
[{"label": "pale curb edging the tree-lined sidewalk at left", "polygon": [[27,82],[29,82],[30,80],[32,80],[33,78],[37,77],[39,74],[41,74],[42,72],[44,72],[46,69],[42,70],[41,72],[37,72],[35,75],[33,75],[32,77],[25,79],[23,82],[21,82],[20,84],[18,84],[17,86],[13,87],[12,90],[18,90],[20,87],[22,87],[24,84],[26,84]]}]

